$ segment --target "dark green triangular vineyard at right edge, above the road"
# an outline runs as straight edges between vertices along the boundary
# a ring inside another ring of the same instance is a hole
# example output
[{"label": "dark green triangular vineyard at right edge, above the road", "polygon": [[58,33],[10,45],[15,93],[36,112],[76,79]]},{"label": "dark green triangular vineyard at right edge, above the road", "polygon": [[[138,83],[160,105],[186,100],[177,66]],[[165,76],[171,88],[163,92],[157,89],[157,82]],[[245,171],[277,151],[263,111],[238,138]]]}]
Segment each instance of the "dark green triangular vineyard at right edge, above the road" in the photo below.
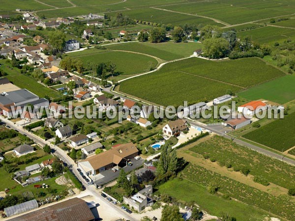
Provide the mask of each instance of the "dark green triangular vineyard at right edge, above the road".
[{"label": "dark green triangular vineyard at right edge, above the road", "polygon": [[295,146],[295,112],[284,119],[277,119],[257,130],[243,135],[243,138],[284,152]]}]

